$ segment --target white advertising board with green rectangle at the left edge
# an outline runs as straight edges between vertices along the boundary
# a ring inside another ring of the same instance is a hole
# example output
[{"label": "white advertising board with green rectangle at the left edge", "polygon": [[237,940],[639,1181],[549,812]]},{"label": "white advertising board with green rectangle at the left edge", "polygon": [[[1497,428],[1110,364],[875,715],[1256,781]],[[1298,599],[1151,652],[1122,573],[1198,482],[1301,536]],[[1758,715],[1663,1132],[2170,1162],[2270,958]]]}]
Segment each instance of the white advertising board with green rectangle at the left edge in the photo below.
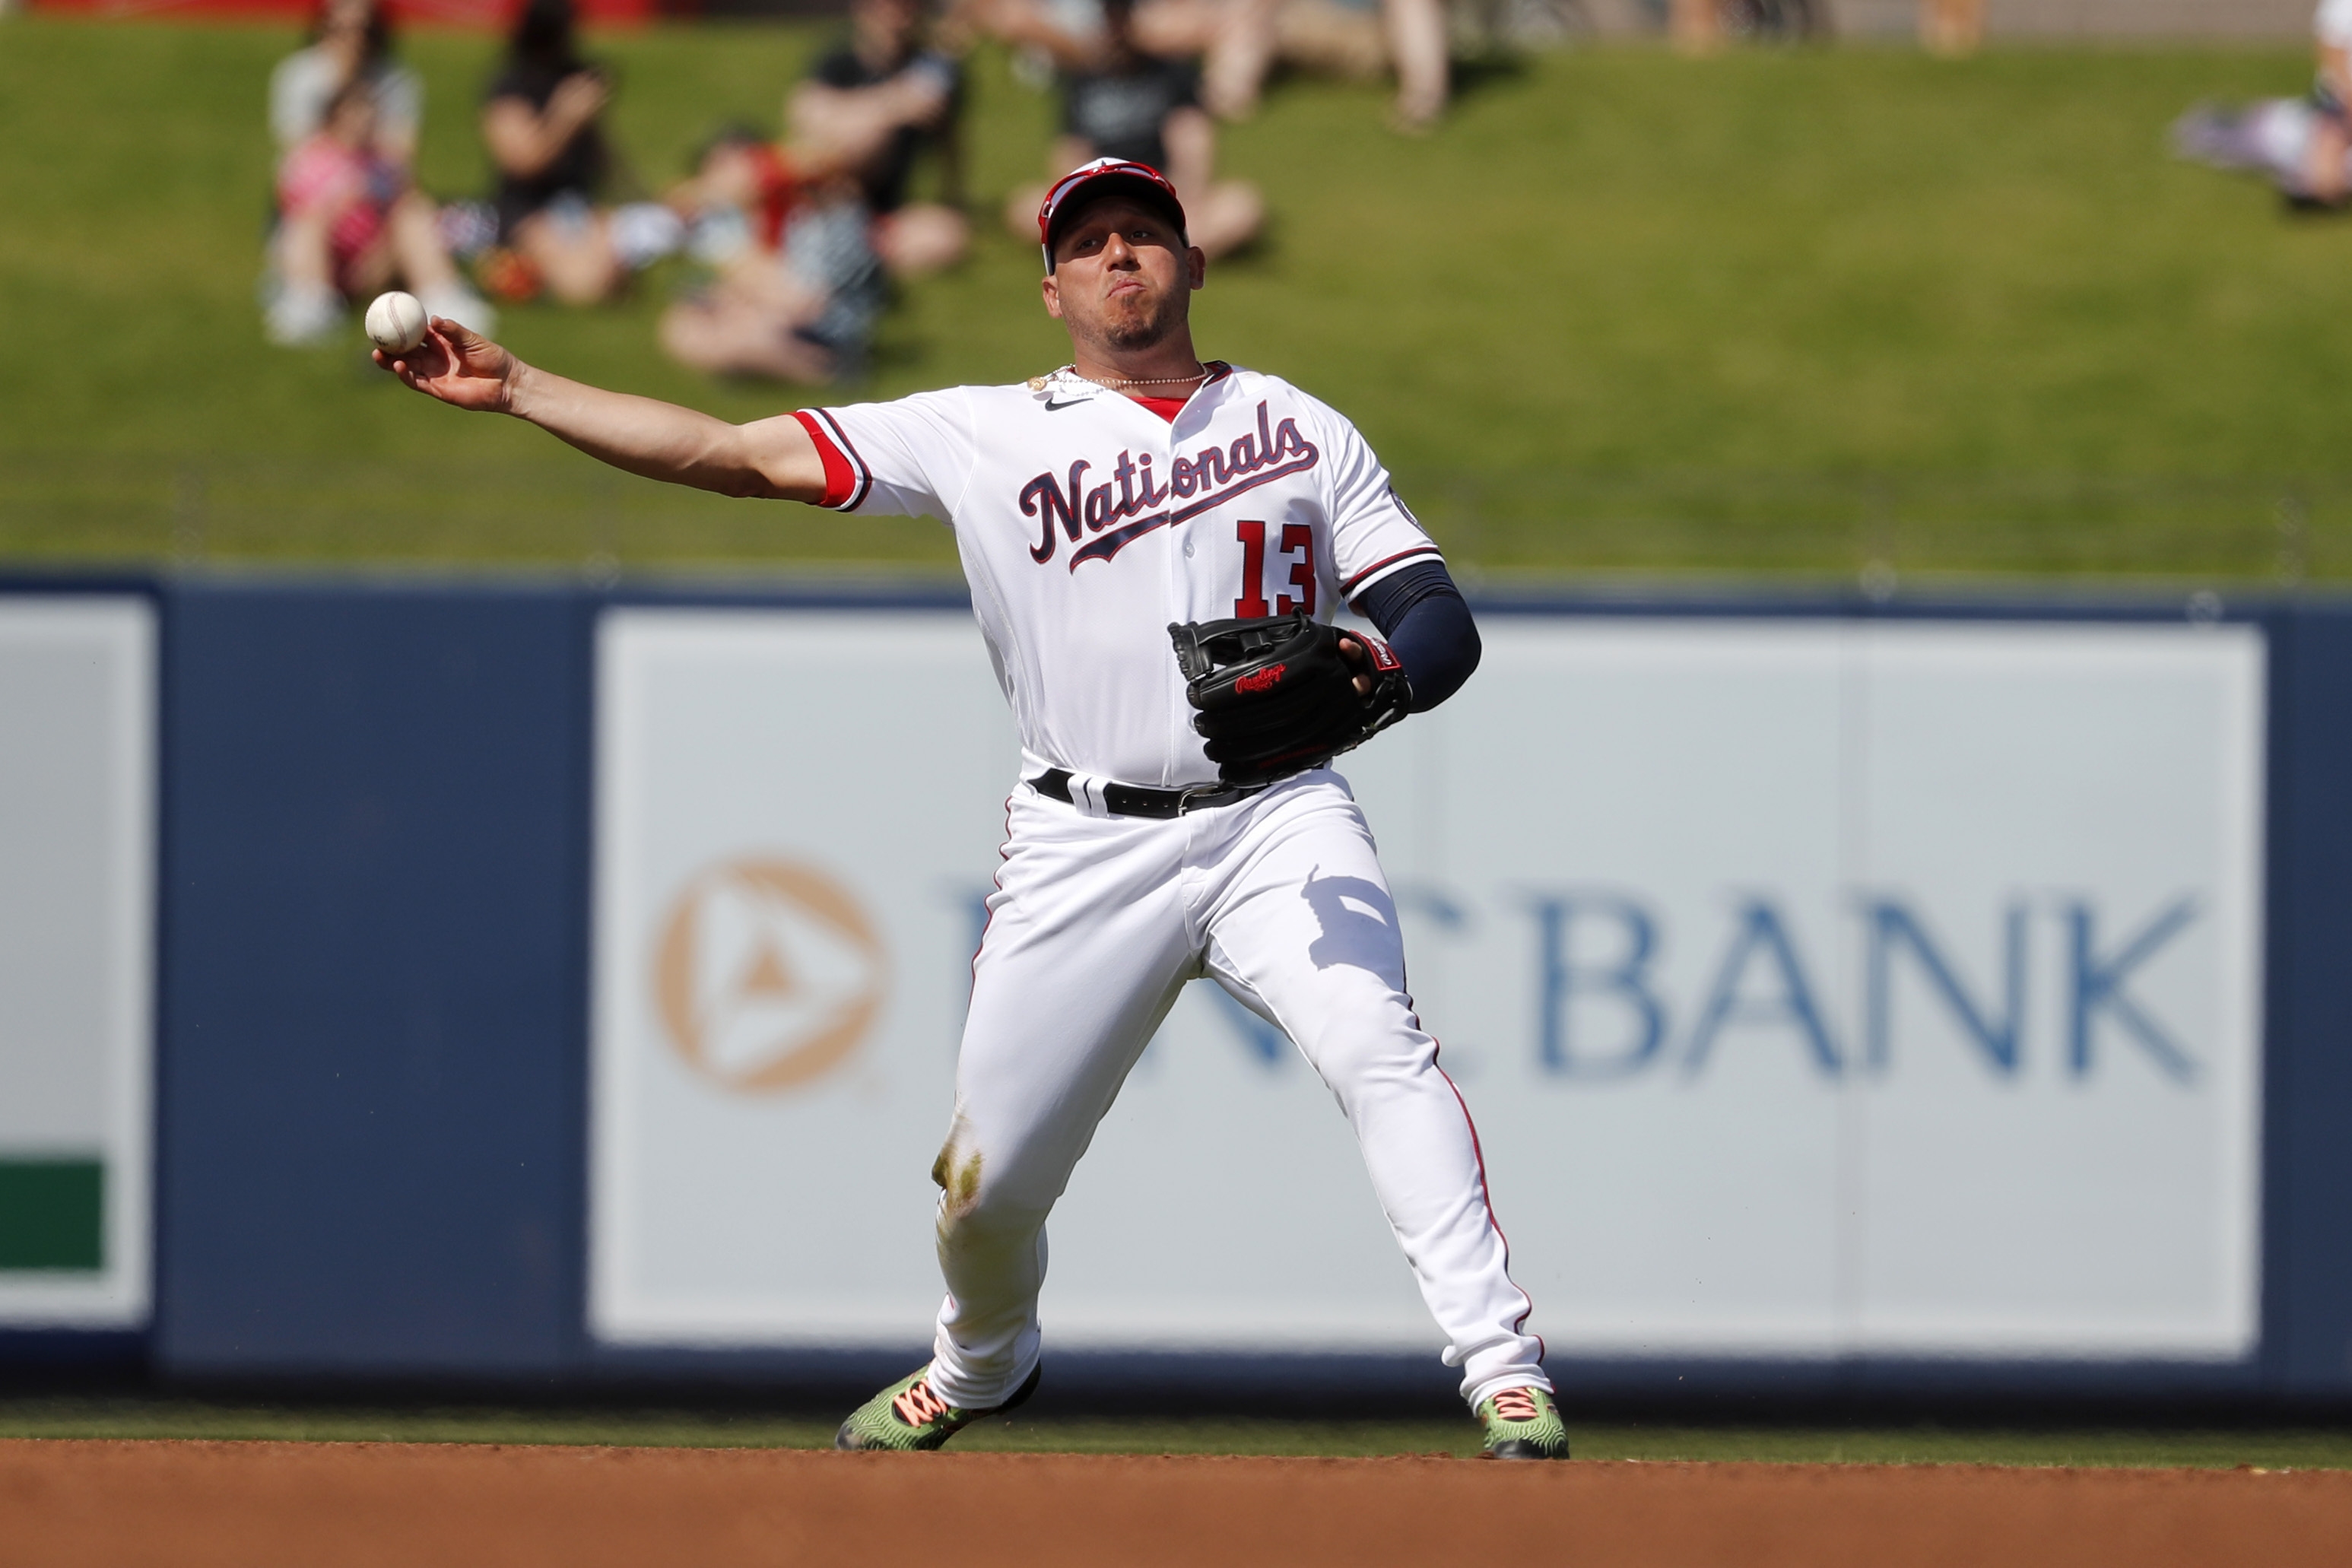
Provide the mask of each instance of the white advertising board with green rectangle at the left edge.
[{"label": "white advertising board with green rectangle at the left edge", "polygon": [[148,1316],[155,614],[0,597],[0,1324]]}]

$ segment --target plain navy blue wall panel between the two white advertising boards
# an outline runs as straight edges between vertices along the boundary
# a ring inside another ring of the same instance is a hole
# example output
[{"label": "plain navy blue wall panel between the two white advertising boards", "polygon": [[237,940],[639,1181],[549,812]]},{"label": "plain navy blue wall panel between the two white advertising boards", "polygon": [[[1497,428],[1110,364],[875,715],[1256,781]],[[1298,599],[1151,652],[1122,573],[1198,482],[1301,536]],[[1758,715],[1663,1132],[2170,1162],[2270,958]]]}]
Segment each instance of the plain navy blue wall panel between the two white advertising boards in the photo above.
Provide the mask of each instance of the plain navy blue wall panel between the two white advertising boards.
[{"label": "plain navy blue wall panel between the two white advertising boards", "polygon": [[586,614],[172,592],[165,1371],[579,1354]]}]

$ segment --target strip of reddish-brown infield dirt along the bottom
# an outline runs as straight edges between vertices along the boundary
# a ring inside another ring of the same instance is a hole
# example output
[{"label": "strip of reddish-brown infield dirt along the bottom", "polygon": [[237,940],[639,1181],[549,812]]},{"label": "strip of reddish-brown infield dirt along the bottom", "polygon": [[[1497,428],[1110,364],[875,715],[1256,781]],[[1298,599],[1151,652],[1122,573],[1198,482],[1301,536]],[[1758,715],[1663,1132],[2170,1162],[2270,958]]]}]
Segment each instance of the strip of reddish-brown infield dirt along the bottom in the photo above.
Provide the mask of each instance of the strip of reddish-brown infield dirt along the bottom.
[{"label": "strip of reddish-brown infield dirt along the bottom", "polygon": [[0,1441],[0,1561],[2286,1568],[2352,1474]]}]

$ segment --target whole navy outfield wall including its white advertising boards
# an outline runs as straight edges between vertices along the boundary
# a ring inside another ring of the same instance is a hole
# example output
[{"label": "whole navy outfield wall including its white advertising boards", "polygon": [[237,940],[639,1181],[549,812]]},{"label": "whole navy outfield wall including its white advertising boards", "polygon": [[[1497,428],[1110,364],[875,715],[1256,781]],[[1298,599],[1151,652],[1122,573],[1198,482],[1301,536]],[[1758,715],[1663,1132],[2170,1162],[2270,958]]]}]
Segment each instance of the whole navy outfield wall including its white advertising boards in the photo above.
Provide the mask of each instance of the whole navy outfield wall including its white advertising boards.
[{"label": "whole navy outfield wall including its white advertising boards", "polygon": [[[1482,625],[1345,766],[1392,898],[1308,896],[1404,929],[1557,1371],[2352,1392],[2352,611]],[[920,1356],[1014,773],[953,595],[0,583],[0,1356]],[[1209,985],[1054,1244],[1058,1378],[1451,1380]]]}]

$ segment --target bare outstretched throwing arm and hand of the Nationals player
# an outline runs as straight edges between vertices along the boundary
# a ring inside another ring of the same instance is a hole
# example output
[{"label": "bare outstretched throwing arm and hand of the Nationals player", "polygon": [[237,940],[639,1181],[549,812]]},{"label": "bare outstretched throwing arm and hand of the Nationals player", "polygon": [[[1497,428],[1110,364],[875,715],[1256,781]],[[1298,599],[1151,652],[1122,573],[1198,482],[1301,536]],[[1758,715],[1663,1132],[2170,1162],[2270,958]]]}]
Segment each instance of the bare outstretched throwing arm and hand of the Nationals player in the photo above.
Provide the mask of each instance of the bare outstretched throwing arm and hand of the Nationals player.
[{"label": "bare outstretched throwing arm and hand of the Nationals player", "polygon": [[419,348],[400,357],[379,348],[376,364],[428,397],[527,418],[647,480],[774,501],[816,503],[826,494],[826,461],[790,414],[729,425],[673,402],[564,381],[445,315],[433,317]]}]

